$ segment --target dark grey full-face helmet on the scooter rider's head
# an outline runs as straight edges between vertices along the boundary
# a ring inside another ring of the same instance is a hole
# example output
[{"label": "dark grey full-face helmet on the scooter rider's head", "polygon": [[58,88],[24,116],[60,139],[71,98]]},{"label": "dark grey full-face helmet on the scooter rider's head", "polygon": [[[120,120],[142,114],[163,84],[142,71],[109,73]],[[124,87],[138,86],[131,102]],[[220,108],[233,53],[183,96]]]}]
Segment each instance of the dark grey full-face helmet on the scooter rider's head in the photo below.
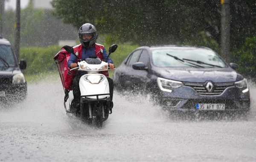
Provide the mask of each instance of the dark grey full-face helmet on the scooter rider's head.
[{"label": "dark grey full-face helmet on the scooter rider's head", "polygon": [[[79,28],[78,31],[79,35],[79,40],[81,44],[85,47],[88,48],[90,46],[93,46],[94,43],[96,43],[97,40],[97,30],[95,26],[93,26],[90,23],[85,23]],[[85,38],[85,35],[87,35],[87,38]],[[91,36],[91,38],[90,38]]]}]

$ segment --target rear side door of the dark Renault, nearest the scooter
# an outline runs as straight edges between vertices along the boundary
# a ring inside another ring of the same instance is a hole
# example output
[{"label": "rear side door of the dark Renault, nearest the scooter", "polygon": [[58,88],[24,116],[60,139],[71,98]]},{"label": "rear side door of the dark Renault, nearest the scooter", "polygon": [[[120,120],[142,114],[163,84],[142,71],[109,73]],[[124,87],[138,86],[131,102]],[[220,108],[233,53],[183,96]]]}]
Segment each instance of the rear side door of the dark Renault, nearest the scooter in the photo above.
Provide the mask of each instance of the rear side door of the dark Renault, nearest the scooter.
[{"label": "rear side door of the dark Renault, nearest the scooter", "polygon": [[119,85],[126,90],[133,90],[134,86],[132,81],[134,79],[134,69],[132,68],[132,64],[136,63],[140,58],[140,53],[142,49],[138,49],[132,52],[129,56],[125,65],[122,66],[122,69],[119,72]]}]

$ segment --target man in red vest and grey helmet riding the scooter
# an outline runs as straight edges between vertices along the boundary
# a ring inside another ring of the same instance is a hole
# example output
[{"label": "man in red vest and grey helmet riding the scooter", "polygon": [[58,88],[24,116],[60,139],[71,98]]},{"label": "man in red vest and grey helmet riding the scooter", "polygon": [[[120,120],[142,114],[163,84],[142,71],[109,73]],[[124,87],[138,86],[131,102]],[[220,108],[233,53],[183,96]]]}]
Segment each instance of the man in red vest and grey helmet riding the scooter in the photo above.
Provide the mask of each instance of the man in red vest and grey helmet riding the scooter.
[{"label": "man in red vest and grey helmet riding the scooter", "polygon": [[[79,29],[79,40],[81,44],[74,46],[74,52],[78,52],[78,58],[80,60],[85,60],[86,58],[100,58],[102,60],[106,60],[108,62],[108,66],[110,69],[114,69],[114,64],[111,58],[108,57],[108,53],[105,49],[105,47],[101,44],[96,43],[97,40],[97,30],[95,26],[93,26],[90,23],[85,23],[83,24],[80,29]],[[77,62],[79,59],[77,58],[76,55],[71,54],[70,59],[68,60],[67,64],[70,69],[73,69],[77,67]],[[73,95],[74,95],[74,101],[76,108],[79,108],[79,103],[80,103],[80,89],[79,89],[79,79],[81,78],[82,75],[86,74],[87,72],[84,71],[79,71],[76,76],[73,78],[73,83],[72,83],[72,89],[73,89]],[[103,71],[102,74],[107,76],[108,82],[109,82],[109,87],[110,87],[110,95],[111,95],[111,101],[113,99],[113,80],[109,78],[108,76],[108,71]],[[111,106],[113,107],[113,105]],[[74,107],[74,110],[70,111],[76,111]]]}]

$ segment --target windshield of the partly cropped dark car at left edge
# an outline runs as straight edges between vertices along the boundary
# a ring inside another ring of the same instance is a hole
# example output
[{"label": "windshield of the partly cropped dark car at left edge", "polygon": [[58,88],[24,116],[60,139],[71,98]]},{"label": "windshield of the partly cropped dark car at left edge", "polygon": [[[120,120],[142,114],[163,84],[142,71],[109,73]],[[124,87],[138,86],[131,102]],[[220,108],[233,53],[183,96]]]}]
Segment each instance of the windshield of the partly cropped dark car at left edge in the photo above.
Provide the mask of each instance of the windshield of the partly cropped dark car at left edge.
[{"label": "windshield of the partly cropped dark car at left edge", "polygon": [[0,45],[0,67],[14,67],[15,61],[11,46]]}]

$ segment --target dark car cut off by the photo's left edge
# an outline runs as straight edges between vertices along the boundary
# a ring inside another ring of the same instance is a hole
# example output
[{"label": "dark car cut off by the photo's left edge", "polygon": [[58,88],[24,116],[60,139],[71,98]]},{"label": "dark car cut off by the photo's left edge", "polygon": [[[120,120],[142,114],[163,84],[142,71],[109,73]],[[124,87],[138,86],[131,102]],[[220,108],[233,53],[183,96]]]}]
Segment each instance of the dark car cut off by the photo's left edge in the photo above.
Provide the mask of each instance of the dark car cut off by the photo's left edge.
[{"label": "dark car cut off by the photo's left edge", "polygon": [[20,101],[26,98],[27,84],[22,69],[26,61],[17,61],[11,43],[0,37],[0,101]]}]

